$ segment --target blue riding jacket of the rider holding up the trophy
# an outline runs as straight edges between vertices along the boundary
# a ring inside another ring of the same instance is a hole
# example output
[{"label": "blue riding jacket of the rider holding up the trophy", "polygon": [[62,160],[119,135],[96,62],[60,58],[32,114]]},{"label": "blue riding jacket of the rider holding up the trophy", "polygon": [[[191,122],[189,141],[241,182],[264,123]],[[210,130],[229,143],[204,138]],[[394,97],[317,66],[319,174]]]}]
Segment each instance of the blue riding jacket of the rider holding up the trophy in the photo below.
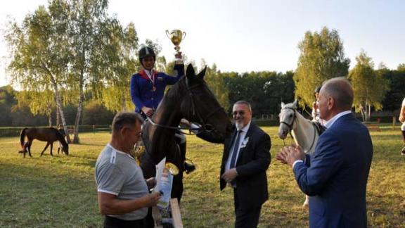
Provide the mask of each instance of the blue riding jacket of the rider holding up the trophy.
[{"label": "blue riding jacket of the rider holding up the trophy", "polygon": [[135,112],[142,113],[143,106],[156,110],[163,99],[167,84],[176,83],[184,75],[184,65],[174,65],[175,76],[153,70],[153,81],[144,70],[131,77],[131,99],[135,104]]}]

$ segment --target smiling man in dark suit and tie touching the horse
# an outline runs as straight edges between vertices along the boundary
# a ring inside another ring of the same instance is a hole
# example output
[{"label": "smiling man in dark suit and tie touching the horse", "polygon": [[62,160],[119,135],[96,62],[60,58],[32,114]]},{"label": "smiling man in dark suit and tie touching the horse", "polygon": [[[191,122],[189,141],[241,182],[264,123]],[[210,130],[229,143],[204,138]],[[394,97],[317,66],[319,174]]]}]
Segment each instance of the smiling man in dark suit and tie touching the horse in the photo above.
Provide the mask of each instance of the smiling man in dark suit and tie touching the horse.
[{"label": "smiling man in dark suit and tie touching the horse", "polygon": [[269,198],[266,170],[270,164],[270,137],[252,120],[252,108],[246,101],[233,105],[233,134],[218,139],[209,132],[198,137],[223,143],[220,189],[233,187],[235,227],[257,227],[262,204]]}]

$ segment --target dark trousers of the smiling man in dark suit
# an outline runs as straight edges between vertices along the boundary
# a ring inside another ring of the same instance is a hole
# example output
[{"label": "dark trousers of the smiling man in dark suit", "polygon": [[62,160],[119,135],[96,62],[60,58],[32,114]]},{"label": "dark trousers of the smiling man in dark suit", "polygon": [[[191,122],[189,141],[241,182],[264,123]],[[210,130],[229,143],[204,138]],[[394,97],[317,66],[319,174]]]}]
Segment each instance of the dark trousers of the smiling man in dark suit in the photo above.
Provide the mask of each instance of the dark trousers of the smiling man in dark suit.
[{"label": "dark trousers of the smiling man in dark suit", "polygon": [[256,228],[259,223],[260,210],[262,210],[262,205],[256,208],[240,208],[238,202],[238,193],[236,189],[233,189],[233,201],[235,203],[235,228]]}]

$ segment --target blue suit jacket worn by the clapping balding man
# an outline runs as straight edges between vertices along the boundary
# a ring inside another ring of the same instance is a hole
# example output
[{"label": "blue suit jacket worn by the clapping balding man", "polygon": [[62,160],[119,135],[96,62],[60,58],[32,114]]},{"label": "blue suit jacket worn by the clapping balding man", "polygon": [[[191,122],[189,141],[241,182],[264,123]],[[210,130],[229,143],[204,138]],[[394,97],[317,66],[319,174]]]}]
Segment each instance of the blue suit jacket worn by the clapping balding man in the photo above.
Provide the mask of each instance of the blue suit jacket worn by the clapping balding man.
[{"label": "blue suit jacket worn by the clapping balding man", "polygon": [[366,185],[373,144],[354,115],[326,129],[306,163],[294,175],[309,198],[309,227],[367,227]]}]

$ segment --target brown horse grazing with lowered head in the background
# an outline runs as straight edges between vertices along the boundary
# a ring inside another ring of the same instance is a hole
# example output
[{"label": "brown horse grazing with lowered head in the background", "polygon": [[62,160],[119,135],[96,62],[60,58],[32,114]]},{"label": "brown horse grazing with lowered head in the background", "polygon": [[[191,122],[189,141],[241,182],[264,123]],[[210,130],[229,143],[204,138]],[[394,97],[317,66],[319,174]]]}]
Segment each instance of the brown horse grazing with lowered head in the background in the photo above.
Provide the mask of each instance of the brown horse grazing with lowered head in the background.
[{"label": "brown horse grazing with lowered head in the background", "polygon": [[[24,141],[25,137],[27,137],[28,141]],[[41,152],[41,156],[44,154],[44,151],[46,150],[46,148],[48,148],[49,145],[51,145],[51,156],[53,156],[52,154],[53,142],[57,140],[60,142],[60,144],[62,144],[62,151],[65,152],[66,155],[69,155],[69,144],[65,141],[65,137],[63,137],[63,135],[60,134],[58,129],[53,127],[46,127],[46,128],[25,127],[20,134],[20,144],[22,148],[20,153],[24,153],[24,158],[25,153],[27,152],[28,155],[32,157],[31,145],[34,139],[47,142],[44,150]]]}]

